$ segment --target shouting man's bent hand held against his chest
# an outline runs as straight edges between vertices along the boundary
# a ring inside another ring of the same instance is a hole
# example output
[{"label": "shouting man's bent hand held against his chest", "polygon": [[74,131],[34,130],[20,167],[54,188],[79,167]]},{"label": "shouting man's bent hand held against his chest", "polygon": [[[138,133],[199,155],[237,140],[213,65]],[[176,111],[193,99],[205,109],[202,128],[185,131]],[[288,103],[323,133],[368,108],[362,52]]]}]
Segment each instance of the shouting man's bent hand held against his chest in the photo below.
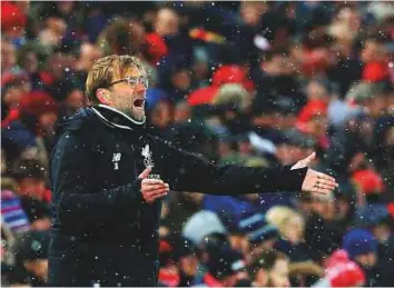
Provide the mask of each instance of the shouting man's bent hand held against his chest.
[{"label": "shouting man's bent hand held against his chest", "polygon": [[156,199],[165,197],[169,191],[169,185],[160,179],[149,179],[151,168],[145,169],[139,176],[141,181],[142,198],[147,203],[152,203]]}]

